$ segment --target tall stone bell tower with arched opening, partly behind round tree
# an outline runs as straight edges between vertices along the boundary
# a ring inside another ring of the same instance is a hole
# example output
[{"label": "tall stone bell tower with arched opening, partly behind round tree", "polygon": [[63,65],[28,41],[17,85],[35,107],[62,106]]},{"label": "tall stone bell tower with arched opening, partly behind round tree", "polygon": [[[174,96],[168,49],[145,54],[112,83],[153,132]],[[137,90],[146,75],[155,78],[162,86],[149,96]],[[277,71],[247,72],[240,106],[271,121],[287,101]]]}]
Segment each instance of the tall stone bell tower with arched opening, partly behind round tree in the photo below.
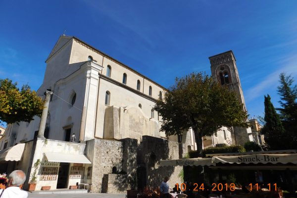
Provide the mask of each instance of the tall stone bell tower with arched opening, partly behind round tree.
[{"label": "tall stone bell tower with arched opening, partly behind round tree", "polygon": [[[222,86],[228,86],[230,90],[238,94],[243,103],[244,111],[247,111],[244,93],[241,87],[239,74],[236,66],[236,59],[233,51],[226,51],[209,57],[211,76]],[[251,129],[243,127],[233,127],[234,136],[232,142],[237,145],[244,145],[248,141],[253,141]]]}]

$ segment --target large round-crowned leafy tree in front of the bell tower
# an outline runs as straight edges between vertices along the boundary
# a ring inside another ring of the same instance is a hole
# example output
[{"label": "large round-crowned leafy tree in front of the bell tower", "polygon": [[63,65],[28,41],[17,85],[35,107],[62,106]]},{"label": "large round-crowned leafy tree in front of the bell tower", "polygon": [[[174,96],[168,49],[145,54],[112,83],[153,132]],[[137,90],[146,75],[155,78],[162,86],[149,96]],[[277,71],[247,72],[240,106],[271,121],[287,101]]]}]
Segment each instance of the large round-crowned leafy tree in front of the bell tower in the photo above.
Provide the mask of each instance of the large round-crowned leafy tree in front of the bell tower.
[{"label": "large round-crowned leafy tree in front of the bell tower", "polygon": [[247,113],[237,94],[202,73],[176,78],[154,109],[162,116],[160,131],[167,136],[193,129],[200,156],[203,136],[212,135],[222,126],[248,126]]}]

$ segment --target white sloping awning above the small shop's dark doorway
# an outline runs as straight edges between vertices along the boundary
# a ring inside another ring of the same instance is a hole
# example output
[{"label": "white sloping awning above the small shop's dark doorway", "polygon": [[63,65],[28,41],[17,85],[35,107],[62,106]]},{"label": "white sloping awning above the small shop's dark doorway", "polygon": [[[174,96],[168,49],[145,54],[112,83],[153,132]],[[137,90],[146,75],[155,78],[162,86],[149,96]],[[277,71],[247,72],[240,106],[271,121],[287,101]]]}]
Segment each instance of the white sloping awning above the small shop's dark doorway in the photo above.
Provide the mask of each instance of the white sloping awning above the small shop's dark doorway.
[{"label": "white sloping awning above the small shop's dark doorway", "polygon": [[91,164],[91,161],[83,154],[65,154],[57,152],[46,152],[45,154],[49,162]]}]

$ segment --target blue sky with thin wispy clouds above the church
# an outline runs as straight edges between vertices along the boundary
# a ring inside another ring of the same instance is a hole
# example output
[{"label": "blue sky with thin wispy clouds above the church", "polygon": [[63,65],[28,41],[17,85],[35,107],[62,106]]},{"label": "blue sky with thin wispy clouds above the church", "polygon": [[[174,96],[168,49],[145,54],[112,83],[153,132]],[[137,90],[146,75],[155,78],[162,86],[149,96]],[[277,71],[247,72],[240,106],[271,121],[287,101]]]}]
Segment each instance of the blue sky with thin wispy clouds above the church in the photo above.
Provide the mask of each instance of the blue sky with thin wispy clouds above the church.
[{"label": "blue sky with thin wispy clouds above the church", "polygon": [[233,50],[250,116],[297,80],[296,0],[1,0],[0,78],[37,90],[64,29],[164,87]]}]

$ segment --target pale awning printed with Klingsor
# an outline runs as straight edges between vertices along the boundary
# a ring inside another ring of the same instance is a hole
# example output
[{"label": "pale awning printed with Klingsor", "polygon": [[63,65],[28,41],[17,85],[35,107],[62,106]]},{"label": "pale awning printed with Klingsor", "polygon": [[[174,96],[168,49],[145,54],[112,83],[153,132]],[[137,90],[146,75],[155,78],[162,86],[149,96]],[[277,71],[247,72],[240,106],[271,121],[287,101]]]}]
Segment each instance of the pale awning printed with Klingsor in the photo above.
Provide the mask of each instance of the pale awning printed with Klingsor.
[{"label": "pale awning printed with Klingsor", "polygon": [[172,159],[161,160],[160,166],[210,166],[215,165],[212,158],[191,158],[191,159]]}]

